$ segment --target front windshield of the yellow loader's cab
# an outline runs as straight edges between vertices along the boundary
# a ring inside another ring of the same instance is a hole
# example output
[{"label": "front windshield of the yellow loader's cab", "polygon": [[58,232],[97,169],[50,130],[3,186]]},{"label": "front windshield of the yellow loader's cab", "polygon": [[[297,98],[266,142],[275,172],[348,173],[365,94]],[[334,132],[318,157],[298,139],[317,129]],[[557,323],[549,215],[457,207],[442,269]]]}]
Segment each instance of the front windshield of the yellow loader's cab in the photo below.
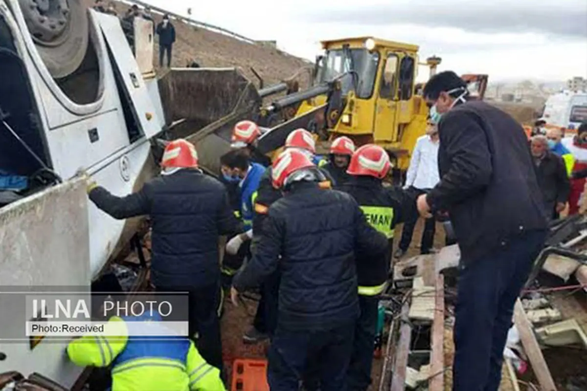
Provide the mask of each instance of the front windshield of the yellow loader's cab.
[{"label": "front windshield of the yellow loader's cab", "polygon": [[[370,53],[366,49],[350,49],[349,52],[350,57],[343,49],[327,50],[316,74],[316,84],[332,81],[347,72],[355,72],[358,79],[356,96],[368,99],[373,95],[379,53]],[[346,74],[340,82],[343,94],[353,89],[352,74]]]}]

